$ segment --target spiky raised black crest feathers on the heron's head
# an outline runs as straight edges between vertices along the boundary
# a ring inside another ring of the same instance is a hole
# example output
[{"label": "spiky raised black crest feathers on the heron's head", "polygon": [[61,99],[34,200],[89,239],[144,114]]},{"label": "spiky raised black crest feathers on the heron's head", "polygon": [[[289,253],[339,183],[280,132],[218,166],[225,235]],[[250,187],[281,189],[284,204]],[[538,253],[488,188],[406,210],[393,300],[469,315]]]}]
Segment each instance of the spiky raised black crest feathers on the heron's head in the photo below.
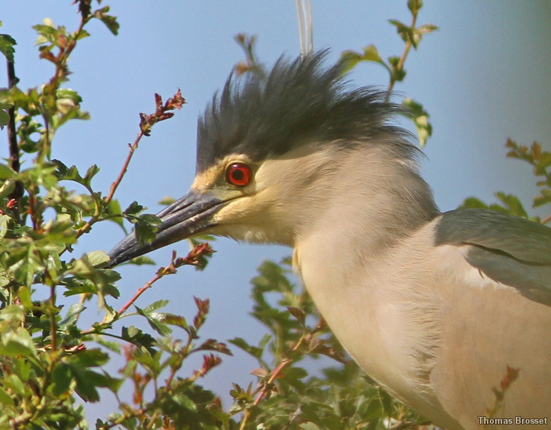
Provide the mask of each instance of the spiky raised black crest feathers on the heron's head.
[{"label": "spiky raised black crest feathers on the heron's head", "polygon": [[197,172],[230,153],[253,161],[308,142],[366,140],[404,130],[388,125],[400,111],[374,87],[348,89],[342,65],[326,68],[326,51],[275,63],[267,74],[232,76],[198,121]]}]

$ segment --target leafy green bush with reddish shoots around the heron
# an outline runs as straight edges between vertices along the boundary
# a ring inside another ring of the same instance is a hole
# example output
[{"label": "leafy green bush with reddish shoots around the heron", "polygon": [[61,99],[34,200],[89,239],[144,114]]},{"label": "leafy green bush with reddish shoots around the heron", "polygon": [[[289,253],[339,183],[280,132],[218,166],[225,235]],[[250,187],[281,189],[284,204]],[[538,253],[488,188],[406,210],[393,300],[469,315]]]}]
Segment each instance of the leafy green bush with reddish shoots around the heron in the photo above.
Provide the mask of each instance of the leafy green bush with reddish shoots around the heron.
[{"label": "leafy green bush with reddish shoots around the heron", "polygon": [[[56,131],[66,122],[88,118],[81,110],[81,98],[63,88],[70,71],[70,54],[81,39],[89,36],[85,27],[92,19],[118,32],[109,7],[93,10],[91,0],[77,0],[81,22],[74,32],[51,21],[35,25],[40,56],[54,65],[54,74],[41,87],[21,91],[14,72],[15,41],[0,35],[0,51],[8,60],[10,87],[0,92],[0,125],[6,126],[10,143],[9,164],[0,164],[0,430],[2,429],[86,429],[81,398],[100,400],[99,388],[116,396],[116,411],[107,420],[96,420],[95,428],[112,429],[406,429],[429,423],[401,405],[368,378],[344,354],[308,294],[289,278],[290,263],[265,262],[253,279],[253,316],[266,327],[258,345],[243,338],[229,341],[258,361],[252,373],[256,387],[233,385],[233,405],[222,409],[220,399],[202,388],[198,379],[220,365],[220,354],[231,354],[229,345],[200,338],[209,312],[208,299],[195,299],[196,314],[180,316],[163,312],[168,301],[138,306],[138,298],[161,277],[176,273],[182,266],[205,268],[212,248],[194,241],[185,257],[173,253],[170,263],[138,290],[121,308],[114,307],[119,293],[116,270],[103,268],[108,257],[103,251],[88,252],[79,259],[68,255],[79,238],[104,221],[123,226],[134,224],[138,239],[154,238],[159,219],[143,213],[133,202],[124,211],[114,198],[138,143],[157,122],[167,120],[180,109],[184,98],[179,90],[165,103],[155,94],[156,110],[141,114],[138,137],[129,145],[127,160],[107,193],[96,191],[92,179],[96,165],[81,173],[51,159]],[[98,2],[99,3],[99,2]],[[355,67],[360,61],[382,65],[389,74],[389,91],[405,77],[404,62],[410,48],[417,48],[422,36],[434,25],[417,26],[421,2],[410,0],[412,24],[391,21],[404,41],[400,56],[382,59],[369,45],[362,52],[346,51],[342,61]],[[238,35],[247,58],[236,74],[258,70],[262,65],[253,54],[253,39]],[[429,116],[415,100],[404,100],[410,108],[422,145],[432,133]],[[534,142],[531,149],[508,142],[509,155],[534,166],[541,195],[534,205],[551,202],[551,155]],[[21,169],[24,154],[32,162]],[[76,182],[85,193],[67,189]],[[491,208],[528,217],[517,197],[498,193],[500,205]],[[475,198],[465,206],[486,207]],[[51,215],[54,214],[54,215]],[[544,222],[548,222],[545,219]],[[149,264],[140,257],[133,264]],[[38,290],[48,298],[36,299]],[[58,296],[74,299],[67,309]],[[275,299],[274,299],[275,297]],[[85,303],[97,300],[103,319],[90,327],[79,326]],[[152,334],[133,325],[115,331],[113,325],[125,316],[137,315],[149,323]],[[201,367],[184,374],[183,363],[194,354],[203,354]],[[306,356],[329,356],[335,365],[322,376],[310,376],[301,361]],[[121,371],[107,372],[111,360],[121,362]],[[122,398],[121,386],[133,387],[132,398]]]}]

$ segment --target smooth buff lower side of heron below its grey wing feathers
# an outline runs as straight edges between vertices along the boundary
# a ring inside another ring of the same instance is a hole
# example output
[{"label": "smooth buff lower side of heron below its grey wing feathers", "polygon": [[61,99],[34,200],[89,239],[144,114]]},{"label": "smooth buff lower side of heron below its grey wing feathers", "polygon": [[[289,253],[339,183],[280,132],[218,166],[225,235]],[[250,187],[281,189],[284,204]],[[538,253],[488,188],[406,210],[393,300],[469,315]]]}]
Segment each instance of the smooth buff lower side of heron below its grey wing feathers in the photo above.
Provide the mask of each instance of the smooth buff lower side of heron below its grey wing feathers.
[{"label": "smooth buff lower side of heron below its grey wing feathers", "polygon": [[[437,250],[459,258],[464,251]],[[548,416],[551,308],[461,261],[448,268],[441,286],[441,347],[430,384],[444,409],[466,429],[490,424],[485,418],[493,420],[491,428],[518,429],[516,417]]]}]

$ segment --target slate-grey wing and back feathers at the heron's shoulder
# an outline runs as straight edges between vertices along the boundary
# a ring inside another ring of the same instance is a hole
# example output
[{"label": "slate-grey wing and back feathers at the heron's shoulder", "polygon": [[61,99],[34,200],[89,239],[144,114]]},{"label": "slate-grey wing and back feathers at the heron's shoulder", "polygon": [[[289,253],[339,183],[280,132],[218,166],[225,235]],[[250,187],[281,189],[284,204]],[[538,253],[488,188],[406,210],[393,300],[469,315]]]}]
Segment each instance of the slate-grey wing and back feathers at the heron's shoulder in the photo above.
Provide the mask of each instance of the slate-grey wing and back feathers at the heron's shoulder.
[{"label": "slate-grey wing and back feathers at the heron's shoulder", "polygon": [[551,306],[551,228],[487,209],[457,209],[441,215],[435,244],[470,245],[471,266]]}]

